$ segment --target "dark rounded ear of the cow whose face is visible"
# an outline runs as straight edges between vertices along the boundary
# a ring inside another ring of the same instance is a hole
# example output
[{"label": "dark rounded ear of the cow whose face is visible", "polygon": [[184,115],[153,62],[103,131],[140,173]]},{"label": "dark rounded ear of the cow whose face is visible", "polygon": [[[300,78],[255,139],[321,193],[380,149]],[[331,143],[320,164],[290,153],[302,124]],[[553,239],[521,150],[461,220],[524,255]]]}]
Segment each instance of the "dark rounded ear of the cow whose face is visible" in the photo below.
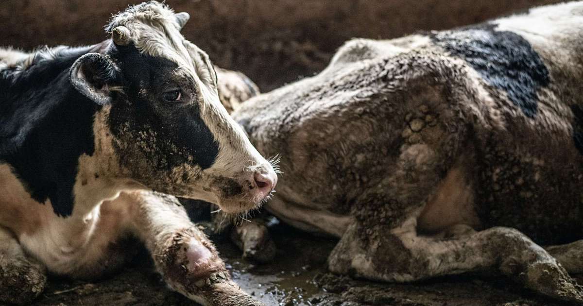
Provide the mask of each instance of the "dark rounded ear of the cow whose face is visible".
[{"label": "dark rounded ear of the cow whose face is visible", "polygon": [[110,59],[99,53],[85,54],[75,61],[70,73],[71,84],[84,96],[97,104],[111,103],[111,87],[119,72]]}]

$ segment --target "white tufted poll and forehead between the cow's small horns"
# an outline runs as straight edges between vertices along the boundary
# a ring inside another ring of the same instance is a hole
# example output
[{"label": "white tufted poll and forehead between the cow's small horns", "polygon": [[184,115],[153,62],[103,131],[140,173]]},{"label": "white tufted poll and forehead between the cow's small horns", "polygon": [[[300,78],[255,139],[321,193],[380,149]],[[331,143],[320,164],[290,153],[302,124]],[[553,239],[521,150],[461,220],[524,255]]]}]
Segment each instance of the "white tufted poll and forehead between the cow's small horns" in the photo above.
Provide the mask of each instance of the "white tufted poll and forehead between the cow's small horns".
[{"label": "white tufted poll and forehead between the cow's small horns", "polygon": [[195,71],[188,43],[180,34],[174,11],[167,5],[151,1],[130,6],[111,18],[106,31],[111,33],[118,26],[127,27],[131,41],[143,54],[166,58]]}]

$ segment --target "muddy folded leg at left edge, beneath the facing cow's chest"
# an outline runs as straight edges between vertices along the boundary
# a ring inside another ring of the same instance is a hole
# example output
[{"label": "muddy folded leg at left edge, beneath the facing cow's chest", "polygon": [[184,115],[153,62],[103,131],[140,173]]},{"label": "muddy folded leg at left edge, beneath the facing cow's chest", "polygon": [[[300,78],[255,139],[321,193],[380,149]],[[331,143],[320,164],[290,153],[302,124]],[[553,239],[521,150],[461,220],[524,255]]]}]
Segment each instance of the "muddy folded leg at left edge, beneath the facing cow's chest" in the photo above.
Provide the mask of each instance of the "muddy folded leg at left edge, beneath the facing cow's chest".
[{"label": "muddy folded leg at left edge, beneath the facing cow's chest", "polygon": [[0,302],[28,304],[46,283],[45,267],[24,254],[12,233],[0,227]]}]

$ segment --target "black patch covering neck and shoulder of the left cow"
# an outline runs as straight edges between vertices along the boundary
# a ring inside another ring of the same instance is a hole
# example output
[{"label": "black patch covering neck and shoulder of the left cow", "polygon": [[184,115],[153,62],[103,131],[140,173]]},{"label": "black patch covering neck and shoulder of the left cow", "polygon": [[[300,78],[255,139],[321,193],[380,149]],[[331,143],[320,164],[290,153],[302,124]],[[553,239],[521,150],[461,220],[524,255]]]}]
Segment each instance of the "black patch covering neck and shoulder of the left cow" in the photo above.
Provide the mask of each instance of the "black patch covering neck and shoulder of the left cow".
[{"label": "black patch covering neck and shoulder of the left cow", "polygon": [[69,82],[69,68],[91,48],[61,50],[22,72],[0,72],[0,163],[12,166],[35,201],[50,199],[59,216],[73,211],[79,156],[94,151],[99,105]]}]

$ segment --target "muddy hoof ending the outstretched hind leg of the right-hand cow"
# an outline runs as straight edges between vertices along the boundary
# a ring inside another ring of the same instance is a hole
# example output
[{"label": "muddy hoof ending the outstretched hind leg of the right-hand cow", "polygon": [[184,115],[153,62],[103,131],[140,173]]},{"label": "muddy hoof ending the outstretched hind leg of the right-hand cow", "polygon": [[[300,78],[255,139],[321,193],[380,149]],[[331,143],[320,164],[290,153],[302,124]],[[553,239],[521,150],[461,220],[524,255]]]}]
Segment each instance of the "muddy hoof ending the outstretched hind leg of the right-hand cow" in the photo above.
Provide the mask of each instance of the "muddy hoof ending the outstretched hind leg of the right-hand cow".
[{"label": "muddy hoof ending the outstretched hind leg of the right-hand cow", "polygon": [[529,289],[558,300],[583,304],[583,287],[556,263],[533,263],[526,269],[524,277]]}]

